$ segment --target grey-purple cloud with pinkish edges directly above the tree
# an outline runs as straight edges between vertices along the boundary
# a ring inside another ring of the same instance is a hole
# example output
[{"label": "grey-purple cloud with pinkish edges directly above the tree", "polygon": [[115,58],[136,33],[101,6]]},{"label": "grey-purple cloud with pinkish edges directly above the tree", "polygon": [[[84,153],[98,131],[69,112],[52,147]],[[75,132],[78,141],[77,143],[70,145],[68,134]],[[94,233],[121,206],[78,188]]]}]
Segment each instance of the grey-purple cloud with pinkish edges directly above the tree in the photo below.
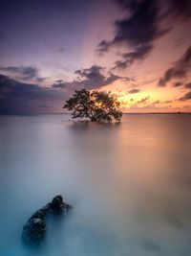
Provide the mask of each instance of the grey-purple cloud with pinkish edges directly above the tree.
[{"label": "grey-purple cloud with pinkish edges directly above the tree", "polygon": [[87,89],[100,88],[111,84],[117,80],[130,81],[127,77],[120,77],[110,73],[108,76],[102,74],[104,68],[93,65],[90,68],[79,69],[74,72],[77,79],[74,81],[56,81],[53,83],[54,88],[68,88],[71,90],[85,87]]}]

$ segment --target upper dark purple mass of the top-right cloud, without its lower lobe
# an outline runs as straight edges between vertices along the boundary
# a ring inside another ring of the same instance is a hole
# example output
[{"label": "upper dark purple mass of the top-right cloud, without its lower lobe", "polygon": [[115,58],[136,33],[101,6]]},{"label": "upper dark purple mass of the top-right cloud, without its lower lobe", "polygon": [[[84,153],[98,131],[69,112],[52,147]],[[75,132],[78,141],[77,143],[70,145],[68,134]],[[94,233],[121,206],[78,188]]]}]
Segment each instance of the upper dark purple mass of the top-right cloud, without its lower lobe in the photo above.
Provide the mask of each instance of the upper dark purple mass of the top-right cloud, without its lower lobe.
[{"label": "upper dark purple mass of the top-right cloud, without its lower lobe", "polygon": [[[127,44],[133,47],[147,46],[166,31],[159,29],[159,6],[156,0],[118,1],[117,4],[127,12],[127,16],[115,22],[116,35],[111,41],[99,43],[99,51]],[[131,12],[131,15],[130,15]]]}]

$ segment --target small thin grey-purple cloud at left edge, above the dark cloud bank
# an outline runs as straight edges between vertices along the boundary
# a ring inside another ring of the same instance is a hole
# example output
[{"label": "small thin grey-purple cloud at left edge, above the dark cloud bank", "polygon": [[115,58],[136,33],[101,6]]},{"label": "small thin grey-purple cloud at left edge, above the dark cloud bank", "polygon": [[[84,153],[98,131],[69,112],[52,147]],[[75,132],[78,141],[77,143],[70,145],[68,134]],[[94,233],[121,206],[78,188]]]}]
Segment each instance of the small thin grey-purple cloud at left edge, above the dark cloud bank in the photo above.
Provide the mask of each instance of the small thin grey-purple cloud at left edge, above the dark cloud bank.
[{"label": "small thin grey-purple cloud at left edge, above the dark cloud bank", "polygon": [[15,79],[24,81],[44,81],[45,78],[39,77],[39,70],[35,67],[23,67],[23,66],[8,66],[0,67],[1,71],[6,71],[11,75],[15,75]]}]

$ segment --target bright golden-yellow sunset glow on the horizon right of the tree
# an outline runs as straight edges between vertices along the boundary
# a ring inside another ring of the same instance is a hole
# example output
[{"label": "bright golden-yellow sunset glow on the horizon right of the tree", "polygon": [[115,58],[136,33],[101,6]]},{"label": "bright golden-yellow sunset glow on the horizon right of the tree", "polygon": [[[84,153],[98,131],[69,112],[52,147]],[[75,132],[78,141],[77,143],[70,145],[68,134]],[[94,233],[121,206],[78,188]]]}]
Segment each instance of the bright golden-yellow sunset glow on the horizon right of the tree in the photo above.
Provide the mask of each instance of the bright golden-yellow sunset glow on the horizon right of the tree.
[{"label": "bright golden-yellow sunset glow on the horizon right of the tree", "polygon": [[[120,89],[117,90],[116,88]],[[175,90],[173,87],[156,87],[155,84],[145,90],[139,90],[137,93],[129,93],[128,85],[117,86],[108,85],[104,89],[109,91],[117,97],[120,107],[124,112],[190,112],[191,105],[189,103],[180,101],[180,89]],[[122,90],[123,88],[123,90]],[[165,93],[164,93],[165,90]],[[183,91],[182,91],[183,94]],[[182,110],[183,109],[183,110]]]}]

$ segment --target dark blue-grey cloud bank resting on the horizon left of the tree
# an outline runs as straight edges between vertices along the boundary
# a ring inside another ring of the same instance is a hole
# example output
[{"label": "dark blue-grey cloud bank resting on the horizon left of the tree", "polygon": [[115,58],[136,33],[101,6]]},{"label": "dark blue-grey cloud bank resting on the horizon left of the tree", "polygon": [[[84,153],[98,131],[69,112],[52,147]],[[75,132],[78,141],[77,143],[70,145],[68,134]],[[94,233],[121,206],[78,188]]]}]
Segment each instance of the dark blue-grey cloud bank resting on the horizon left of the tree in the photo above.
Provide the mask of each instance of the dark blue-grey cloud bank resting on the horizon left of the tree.
[{"label": "dark blue-grey cloud bank resting on the horizon left of the tree", "polygon": [[59,103],[61,110],[64,100],[65,95],[56,89],[0,75],[0,114],[53,112]]}]

